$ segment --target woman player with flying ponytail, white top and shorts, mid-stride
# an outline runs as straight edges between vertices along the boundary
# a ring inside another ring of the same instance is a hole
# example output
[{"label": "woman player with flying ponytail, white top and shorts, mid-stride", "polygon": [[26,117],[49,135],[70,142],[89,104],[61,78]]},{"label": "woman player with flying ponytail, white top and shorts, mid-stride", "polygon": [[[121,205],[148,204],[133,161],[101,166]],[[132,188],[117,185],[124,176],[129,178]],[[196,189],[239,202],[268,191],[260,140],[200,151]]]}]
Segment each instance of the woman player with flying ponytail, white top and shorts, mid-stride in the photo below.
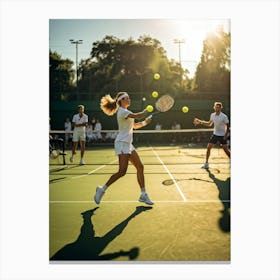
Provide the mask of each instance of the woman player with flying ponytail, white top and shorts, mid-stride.
[{"label": "woman player with flying ponytail, white top and shorts, mid-stride", "polygon": [[97,204],[100,203],[107,188],[126,174],[129,161],[137,170],[137,181],[141,189],[139,201],[149,205],[154,204],[146,193],[144,166],[132,145],[133,129],[146,126],[151,122],[151,118],[147,117],[142,122],[134,122],[135,119],[143,119],[146,110],[133,113],[127,109],[129,106],[130,98],[126,92],[119,92],[114,99],[110,95],[106,95],[101,99],[100,107],[105,114],[111,116],[117,113],[119,131],[115,139],[115,152],[119,157],[119,170],[109,178],[104,186],[98,186],[96,188],[94,201]]}]

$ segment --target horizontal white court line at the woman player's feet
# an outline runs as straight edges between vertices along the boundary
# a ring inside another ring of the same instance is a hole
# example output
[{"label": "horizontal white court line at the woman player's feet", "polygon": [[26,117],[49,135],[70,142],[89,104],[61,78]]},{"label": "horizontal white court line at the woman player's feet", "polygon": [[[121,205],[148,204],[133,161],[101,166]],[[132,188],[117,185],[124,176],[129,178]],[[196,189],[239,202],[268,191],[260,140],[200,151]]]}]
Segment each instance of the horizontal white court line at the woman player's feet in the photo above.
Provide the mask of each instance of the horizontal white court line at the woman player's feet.
[{"label": "horizontal white court line at the woman player's feet", "polygon": [[[153,200],[154,203],[223,203],[223,202],[230,202],[230,200],[188,200],[188,201],[182,201],[182,200]],[[93,203],[93,200],[72,200],[72,201],[68,201],[68,200],[52,200],[49,201],[49,203],[51,204],[55,204],[55,203]],[[101,204],[103,203],[139,203],[138,200],[102,200]]]}]

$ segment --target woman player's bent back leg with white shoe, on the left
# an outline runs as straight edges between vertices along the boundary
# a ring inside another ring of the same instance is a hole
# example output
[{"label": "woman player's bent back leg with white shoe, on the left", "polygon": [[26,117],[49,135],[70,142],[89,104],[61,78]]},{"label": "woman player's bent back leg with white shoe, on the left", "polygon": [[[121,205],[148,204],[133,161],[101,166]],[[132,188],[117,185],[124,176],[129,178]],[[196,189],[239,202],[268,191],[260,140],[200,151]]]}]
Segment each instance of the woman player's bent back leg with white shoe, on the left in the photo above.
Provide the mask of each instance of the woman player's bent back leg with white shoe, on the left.
[{"label": "woman player's bent back leg with white shoe, on the left", "polygon": [[95,201],[96,204],[100,203],[101,198],[105,194],[105,191],[107,190],[107,188],[110,185],[112,185],[114,182],[116,182],[119,178],[121,178],[122,176],[124,176],[126,174],[129,157],[130,157],[130,154],[120,154],[119,155],[119,170],[118,170],[118,172],[113,174],[103,187],[98,186],[96,188],[96,193],[94,195],[94,201]]}]

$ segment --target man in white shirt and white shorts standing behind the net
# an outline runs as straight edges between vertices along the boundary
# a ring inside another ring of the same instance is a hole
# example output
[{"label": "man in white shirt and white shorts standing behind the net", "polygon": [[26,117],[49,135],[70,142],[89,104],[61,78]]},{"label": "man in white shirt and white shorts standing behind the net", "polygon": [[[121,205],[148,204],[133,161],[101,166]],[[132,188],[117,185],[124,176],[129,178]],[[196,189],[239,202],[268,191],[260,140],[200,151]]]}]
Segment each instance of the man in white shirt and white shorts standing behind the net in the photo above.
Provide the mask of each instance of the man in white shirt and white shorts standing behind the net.
[{"label": "man in white shirt and white shorts standing behind the net", "polygon": [[80,165],[84,165],[84,153],[86,146],[86,127],[88,125],[88,116],[84,113],[85,107],[83,105],[78,105],[78,114],[73,116],[72,125],[74,128],[73,139],[72,139],[72,156],[70,157],[70,162],[74,162],[74,156],[76,154],[76,149],[78,146],[78,141],[80,141],[81,146],[81,159]]}]

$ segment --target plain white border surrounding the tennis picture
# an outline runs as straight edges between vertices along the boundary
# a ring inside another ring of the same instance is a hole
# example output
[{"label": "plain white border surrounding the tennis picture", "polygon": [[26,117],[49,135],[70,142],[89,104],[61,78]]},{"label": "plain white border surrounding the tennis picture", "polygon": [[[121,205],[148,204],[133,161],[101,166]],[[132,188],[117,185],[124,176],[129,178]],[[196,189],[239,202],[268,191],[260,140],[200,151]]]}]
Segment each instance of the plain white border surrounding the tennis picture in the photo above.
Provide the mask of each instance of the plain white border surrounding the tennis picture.
[{"label": "plain white border surrounding the tennis picture", "polygon": [[[0,4],[1,279],[280,278],[277,0],[4,0]],[[48,139],[48,20],[139,15],[231,19],[231,263],[50,265],[48,164],[43,156],[47,151],[42,150]],[[34,70],[35,77],[30,75]],[[34,131],[38,141],[29,148]]]}]

